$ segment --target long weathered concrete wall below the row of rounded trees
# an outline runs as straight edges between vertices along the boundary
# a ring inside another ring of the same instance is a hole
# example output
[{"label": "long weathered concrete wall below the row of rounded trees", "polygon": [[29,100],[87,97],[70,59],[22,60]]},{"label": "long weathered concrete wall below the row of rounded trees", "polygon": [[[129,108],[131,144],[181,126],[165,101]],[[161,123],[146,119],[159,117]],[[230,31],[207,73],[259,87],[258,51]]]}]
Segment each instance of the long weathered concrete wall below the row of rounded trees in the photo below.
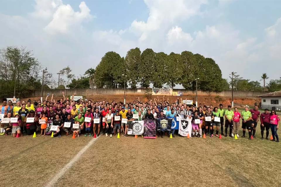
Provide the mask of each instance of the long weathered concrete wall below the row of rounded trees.
[{"label": "long weathered concrete wall below the row of rounded trees", "polygon": [[[138,92],[140,90],[140,92]],[[148,89],[151,90],[151,89]],[[88,96],[88,95],[108,95],[108,96],[116,96],[116,95],[124,95],[124,89],[52,89],[52,90],[43,90],[43,97],[47,96],[47,93],[52,95],[54,93],[55,96],[62,96],[62,92],[64,91],[65,96],[70,96],[73,93],[76,96]],[[145,94],[146,89],[126,89],[126,95],[136,95],[143,96]],[[185,89],[173,89],[173,92],[182,92],[183,96],[196,96],[196,91],[185,90]],[[206,96],[206,97],[231,97],[231,90],[222,91],[222,92],[209,92],[209,91],[198,91],[198,96]],[[247,97],[256,97],[258,95],[268,93],[268,92],[255,92],[255,91],[234,91],[234,98],[247,98]],[[41,90],[31,91],[29,95],[26,97],[40,97]]]}]

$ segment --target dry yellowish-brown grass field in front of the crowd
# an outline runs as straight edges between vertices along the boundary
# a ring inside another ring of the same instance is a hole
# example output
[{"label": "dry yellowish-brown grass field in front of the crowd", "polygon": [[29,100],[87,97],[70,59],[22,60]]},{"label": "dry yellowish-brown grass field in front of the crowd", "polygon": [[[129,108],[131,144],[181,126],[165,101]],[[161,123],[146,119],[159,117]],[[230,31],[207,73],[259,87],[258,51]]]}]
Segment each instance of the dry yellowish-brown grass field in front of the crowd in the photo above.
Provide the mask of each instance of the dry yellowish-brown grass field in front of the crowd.
[{"label": "dry yellowish-brown grass field in front of the crowd", "polygon": [[281,186],[280,143],[256,135],[0,136],[1,186]]}]

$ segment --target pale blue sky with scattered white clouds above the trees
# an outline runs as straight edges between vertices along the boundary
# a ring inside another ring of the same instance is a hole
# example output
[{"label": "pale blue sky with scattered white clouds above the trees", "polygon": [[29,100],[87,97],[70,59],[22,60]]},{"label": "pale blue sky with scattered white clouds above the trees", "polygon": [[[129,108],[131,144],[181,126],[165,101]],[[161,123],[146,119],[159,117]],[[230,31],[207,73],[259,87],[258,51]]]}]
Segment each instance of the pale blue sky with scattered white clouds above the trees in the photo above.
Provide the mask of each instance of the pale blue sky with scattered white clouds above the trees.
[{"label": "pale blue sky with scattered white clouds above the trees", "polygon": [[[228,78],[281,77],[281,1],[0,0],[0,48],[24,46],[53,73],[76,77],[115,51],[151,48],[213,58]],[[262,81],[260,81],[262,82]]]}]

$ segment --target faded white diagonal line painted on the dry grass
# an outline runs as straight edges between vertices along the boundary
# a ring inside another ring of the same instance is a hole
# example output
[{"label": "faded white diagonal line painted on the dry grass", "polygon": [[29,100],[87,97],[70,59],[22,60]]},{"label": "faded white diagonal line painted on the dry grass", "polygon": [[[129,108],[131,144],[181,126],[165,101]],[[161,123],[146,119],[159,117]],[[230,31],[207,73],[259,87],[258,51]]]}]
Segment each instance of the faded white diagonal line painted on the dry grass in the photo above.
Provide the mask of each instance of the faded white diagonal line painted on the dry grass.
[{"label": "faded white diagonal line painted on the dry grass", "polygon": [[56,184],[56,182],[67,172],[68,169],[72,167],[72,165],[80,158],[81,155],[97,140],[97,138],[93,138],[85,147],[83,147],[77,155],[73,157],[73,159],[68,162],[59,172],[57,172],[54,177],[52,177],[51,181],[49,181],[46,187],[52,187]]}]

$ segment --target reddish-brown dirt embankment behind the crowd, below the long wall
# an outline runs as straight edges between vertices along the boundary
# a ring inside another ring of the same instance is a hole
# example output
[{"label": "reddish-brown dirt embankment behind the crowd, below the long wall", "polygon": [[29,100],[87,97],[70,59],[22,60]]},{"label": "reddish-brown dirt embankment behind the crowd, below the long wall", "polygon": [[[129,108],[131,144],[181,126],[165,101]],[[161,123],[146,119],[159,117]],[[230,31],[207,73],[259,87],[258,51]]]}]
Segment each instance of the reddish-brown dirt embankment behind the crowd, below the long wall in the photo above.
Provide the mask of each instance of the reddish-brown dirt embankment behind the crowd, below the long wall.
[{"label": "reddish-brown dirt embankment behind the crowd, below the long wall", "polygon": [[[101,101],[101,100],[106,100],[109,102],[112,101],[124,101],[124,96],[99,96],[99,95],[90,95],[86,96],[88,99],[93,99],[94,101]],[[54,99],[58,100],[62,97],[54,97]],[[141,102],[148,102],[150,99],[156,98],[157,96],[139,96]],[[179,101],[182,98],[183,100],[193,100],[195,102],[196,97],[195,96],[184,96],[184,97],[178,97],[178,96],[165,96],[165,100],[169,98],[169,103],[174,103],[178,98]],[[20,100],[27,101],[28,99],[31,100],[38,100],[40,99],[39,97],[33,97],[33,98],[22,98]],[[48,97],[48,100],[51,99],[51,97]],[[132,95],[127,95],[126,96],[126,102],[131,102],[131,101],[137,101],[138,96],[132,96]],[[159,100],[163,101],[163,96],[159,96]],[[245,105],[249,106],[254,106],[254,103],[259,103],[261,101],[260,98],[234,98],[234,106],[236,107],[244,107]],[[228,97],[202,97],[198,96],[198,103],[202,103],[203,105],[213,105],[213,106],[218,106],[220,103],[222,103],[224,106],[231,105],[231,98]]]}]

